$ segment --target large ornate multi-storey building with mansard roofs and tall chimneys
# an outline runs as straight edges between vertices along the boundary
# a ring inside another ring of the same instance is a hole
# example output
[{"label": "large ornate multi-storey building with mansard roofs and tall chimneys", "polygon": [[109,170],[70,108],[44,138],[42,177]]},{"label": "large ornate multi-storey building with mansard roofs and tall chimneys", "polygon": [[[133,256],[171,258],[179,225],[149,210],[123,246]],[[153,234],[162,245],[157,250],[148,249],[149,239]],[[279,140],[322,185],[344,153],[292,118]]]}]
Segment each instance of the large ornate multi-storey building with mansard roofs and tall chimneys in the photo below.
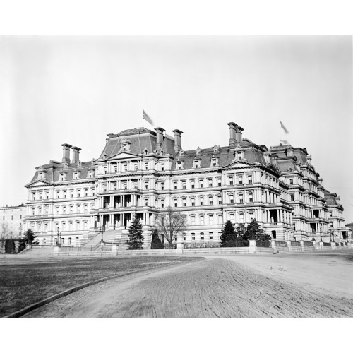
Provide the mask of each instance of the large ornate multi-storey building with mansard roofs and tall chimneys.
[{"label": "large ornate multi-storey building with mansard roofs and tall chimneys", "polygon": [[55,244],[60,232],[61,244],[80,246],[101,225],[112,240],[125,239],[136,215],[148,245],[156,215],[171,206],[186,217],[186,233],[177,234],[186,242],[220,241],[227,220],[248,225],[253,218],[275,239],[352,238],[339,198],[324,189],[305,148],[268,149],[228,125],[228,145],[196,150],[183,150],[182,131],[172,137],[163,128],[108,134],[91,162],[62,145],[61,162],[36,167],[26,185],[26,229],[41,244]]}]

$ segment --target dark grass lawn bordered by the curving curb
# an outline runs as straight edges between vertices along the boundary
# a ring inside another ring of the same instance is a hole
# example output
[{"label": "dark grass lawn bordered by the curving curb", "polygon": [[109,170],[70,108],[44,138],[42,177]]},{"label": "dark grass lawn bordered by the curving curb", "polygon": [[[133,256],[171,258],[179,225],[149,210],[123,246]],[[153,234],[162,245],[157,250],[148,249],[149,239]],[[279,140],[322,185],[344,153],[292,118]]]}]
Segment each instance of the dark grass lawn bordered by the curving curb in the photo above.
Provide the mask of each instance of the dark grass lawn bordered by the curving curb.
[{"label": "dark grass lawn bordered by the curving curb", "polygon": [[197,261],[183,257],[20,258],[0,256],[0,316],[102,277]]}]

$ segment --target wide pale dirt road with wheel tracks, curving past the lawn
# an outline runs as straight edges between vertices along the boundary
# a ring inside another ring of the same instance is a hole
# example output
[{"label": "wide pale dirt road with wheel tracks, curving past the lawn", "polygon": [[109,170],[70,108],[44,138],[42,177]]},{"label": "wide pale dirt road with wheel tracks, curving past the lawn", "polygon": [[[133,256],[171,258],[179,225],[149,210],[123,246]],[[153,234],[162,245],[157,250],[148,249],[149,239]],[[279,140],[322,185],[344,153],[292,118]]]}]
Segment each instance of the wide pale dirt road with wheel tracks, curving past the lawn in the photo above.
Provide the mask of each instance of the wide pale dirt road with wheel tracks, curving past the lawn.
[{"label": "wide pale dirt road with wheel tracks, curving past the lawn", "polygon": [[[353,293],[347,285],[353,280],[352,261],[338,254],[335,263],[325,265],[328,259],[318,256],[208,257],[88,287],[26,316],[352,317]],[[330,285],[323,285],[320,276],[313,280],[325,268],[330,268]],[[335,273],[342,269],[337,287]]]}]

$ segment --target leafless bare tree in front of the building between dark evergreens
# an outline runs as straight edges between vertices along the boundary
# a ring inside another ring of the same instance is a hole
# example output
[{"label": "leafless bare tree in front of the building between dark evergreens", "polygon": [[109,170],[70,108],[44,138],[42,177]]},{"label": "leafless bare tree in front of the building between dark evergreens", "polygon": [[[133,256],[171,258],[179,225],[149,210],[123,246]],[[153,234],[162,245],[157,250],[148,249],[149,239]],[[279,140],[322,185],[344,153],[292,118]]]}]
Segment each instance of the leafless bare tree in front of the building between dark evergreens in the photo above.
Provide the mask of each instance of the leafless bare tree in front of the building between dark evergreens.
[{"label": "leafless bare tree in front of the building between dark evergreens", "polygon": [[183,213],[168,207],[164,212],[157,215],[155,227],[160,234],[164,234],[168,243],[172,244],[178,233],[184,233],[186,231],[186,217]]}]

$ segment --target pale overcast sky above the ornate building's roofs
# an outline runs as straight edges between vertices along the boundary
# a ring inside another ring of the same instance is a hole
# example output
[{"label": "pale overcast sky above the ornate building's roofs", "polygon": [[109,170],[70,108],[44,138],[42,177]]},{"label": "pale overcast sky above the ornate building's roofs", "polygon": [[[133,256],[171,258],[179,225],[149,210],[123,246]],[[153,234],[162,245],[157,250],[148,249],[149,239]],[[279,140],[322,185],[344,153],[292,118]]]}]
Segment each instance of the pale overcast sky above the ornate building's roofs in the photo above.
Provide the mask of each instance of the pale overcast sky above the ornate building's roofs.
[{"label": "pale overcast sky above the ornate building's roofs", "polygon": [[353,221],[350,36],[2,36],[0,102],[1,206],[26,201],[62,143],[89,161],[107,133],[160,126],[209,148],[234,121],[258,145],[306,148]]}]

